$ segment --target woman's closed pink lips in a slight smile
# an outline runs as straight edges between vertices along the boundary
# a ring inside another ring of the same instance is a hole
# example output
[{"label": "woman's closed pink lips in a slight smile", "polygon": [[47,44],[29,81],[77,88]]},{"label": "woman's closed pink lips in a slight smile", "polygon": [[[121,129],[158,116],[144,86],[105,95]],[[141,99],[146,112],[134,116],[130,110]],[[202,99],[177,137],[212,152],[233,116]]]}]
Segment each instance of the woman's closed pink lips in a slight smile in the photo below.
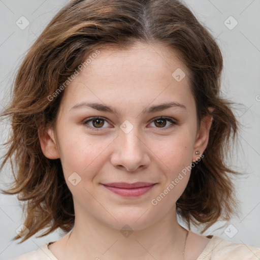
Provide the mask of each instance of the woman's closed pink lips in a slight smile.
[{"label": "woman's closed pink lips in a slight smile", "polygon": [[119,194],[123,197],[138,197],[150,190],[154,184],[149,182],[135,182],[135,183],[126,183],[126,182],[113,182],[103,184],[104,187],[110,191]]}]

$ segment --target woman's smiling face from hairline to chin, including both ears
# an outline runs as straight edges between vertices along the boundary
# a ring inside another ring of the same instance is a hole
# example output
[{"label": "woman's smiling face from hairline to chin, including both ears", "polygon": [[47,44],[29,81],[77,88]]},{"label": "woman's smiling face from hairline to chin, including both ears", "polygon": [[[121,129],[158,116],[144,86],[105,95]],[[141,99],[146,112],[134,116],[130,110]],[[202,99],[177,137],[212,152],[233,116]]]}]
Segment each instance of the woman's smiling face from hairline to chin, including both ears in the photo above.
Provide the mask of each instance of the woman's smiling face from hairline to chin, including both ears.
[{"label": "woman's smiling face from hairline to chin, including both ears", "polygon": [[100,49],[64,90],[41,145],[45,156],[61,160],[76,218],[140,230],[175,209],[210,128],[206,120],[198,130],[189,73],[176,54],[141,43]]}]

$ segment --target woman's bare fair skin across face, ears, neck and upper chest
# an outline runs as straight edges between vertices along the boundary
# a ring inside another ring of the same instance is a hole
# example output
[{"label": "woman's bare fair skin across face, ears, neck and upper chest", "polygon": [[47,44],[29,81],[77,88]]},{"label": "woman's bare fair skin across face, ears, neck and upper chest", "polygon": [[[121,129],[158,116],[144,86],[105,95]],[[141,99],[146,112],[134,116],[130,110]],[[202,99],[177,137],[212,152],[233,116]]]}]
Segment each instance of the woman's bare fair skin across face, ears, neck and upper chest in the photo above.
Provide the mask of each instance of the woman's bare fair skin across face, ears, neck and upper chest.
[{"label": "woman's bare fair skin across face, ears, neck and upper chest", "polygon": [[[198,127],[189,72],[173,50],[137,43],[127,50],[100,51],[64,90],[55,127],[41,138],[45,156],[61,160],[75,207],[72,233],[49,249],[59,260],[183,259],[186,231],[178,224],[176,201],[190,172],[157,205],[151,200],[198,159],[197,150],[204,152],[212,117],[205,116]],[[178,68],[186,74],[180,82],[172,77]],[[152,105],[173,101],[186,110],[141,114]],[[106,104],[121,114],[86,106],[72,109],[81,102]],[[86,123],[93,116],[107,121]],[[155,120],[160,116],[176,124],[164,119],[160,127]],[[127,134],[120,128],[125,120],[133,126]],[[75,186],[68,179],[74,172],[81,177]],[[137,181],[157,184],[138,198],[121,197],[101,184]],[[120,233],[125,224],[133,231],[128,237]],[[185,259],[197,259],[209,241],[189,232]]]}]

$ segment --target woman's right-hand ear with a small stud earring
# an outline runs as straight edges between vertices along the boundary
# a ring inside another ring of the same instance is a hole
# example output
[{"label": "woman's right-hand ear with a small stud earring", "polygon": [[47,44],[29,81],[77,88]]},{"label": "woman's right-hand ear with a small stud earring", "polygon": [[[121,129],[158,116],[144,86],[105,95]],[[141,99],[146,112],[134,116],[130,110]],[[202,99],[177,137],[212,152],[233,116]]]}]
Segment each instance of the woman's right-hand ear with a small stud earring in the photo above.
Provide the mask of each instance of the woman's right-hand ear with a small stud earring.
[{"label": "woman's right-hand ear with a small stud earring", "polygon": [[[212,112],[214,108],[208,108],[208,110]],[[200,151],[200,154],[202,154],[207,148],[212,121],[213,117],[210,114],[207,114],[202,118],[200,129],[196,136],[193,154],[195,154],[196,151]]]}]

